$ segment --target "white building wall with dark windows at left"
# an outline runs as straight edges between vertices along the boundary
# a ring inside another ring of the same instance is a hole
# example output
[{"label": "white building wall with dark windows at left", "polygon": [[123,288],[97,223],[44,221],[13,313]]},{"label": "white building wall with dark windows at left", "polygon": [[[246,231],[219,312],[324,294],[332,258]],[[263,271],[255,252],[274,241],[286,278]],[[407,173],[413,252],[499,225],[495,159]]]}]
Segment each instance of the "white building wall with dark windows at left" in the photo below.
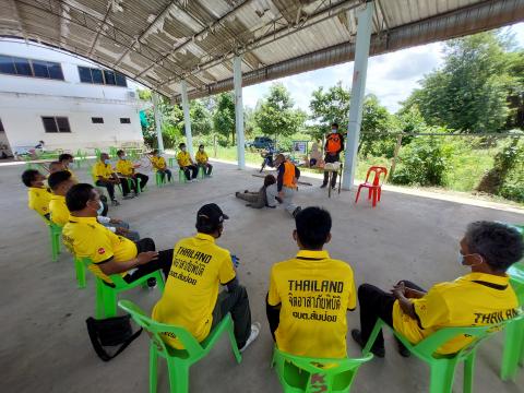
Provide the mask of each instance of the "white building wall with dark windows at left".
[{"label": "white building wall with dark windows at left", "polygon": [[[128,87],[81,83],[78,66],[102,68],[90,61],[51,49],[21,43],[0,41],[0,55],[59,62],[64,81],[0,73],[0,119],[11,148],[33,147],[40,140],[46,148],[105,148],[142,144],[139,111],[134,97],[138,85]],[[43,116],[68,117],[71,133],[46,133]],[[93,123],[92,117],[104,118]],[[120,123],[130,118],[131,123]]]}]

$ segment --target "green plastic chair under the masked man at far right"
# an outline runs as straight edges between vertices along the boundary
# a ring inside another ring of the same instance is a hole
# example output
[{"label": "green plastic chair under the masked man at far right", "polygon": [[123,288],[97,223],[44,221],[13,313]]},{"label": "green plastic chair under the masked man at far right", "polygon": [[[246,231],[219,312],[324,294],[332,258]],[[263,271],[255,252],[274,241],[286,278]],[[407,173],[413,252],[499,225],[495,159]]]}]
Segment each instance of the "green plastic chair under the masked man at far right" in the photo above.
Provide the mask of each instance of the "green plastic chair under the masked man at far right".
[{"label": "green plastic chair under the masked man at far right", "polygon": [[[412,344],[398,332],[393,331],[393,334],[405,345],[407,349],[420,360],[428,364],[431,370],[430,377],[430,393],[451,393],[453,389],[453,379],[455,376],[455,368],[458,364],[464,362],[464,384],[463,392],[472,393],[473,392],[473,373],[475,367],[475,355],[477,346],[486,338],[492,334],[500,331],[508,323],[513,323],[515,321],[522,321],[524,314],[515,317],[512,320],[504,321],[499,324],[488,325],[488,326],[476,326],[476,327],[444,327],[441,329],[430,336],[426,337],[418,344]],[[379,319],[374,324],[373,331],[369,336],[368,343],[362,349],[362,354],[369,354],[377,335],[380,330],[388,324]],[[388,326],[389,327],[389,326]],[[390,327],[391,329],[391,327]],[[443,344],[456,337],[461,334],[467,334],[475,338],[475,341],[468,346],[462,348],[456,354],[453,355],[439,355],[436,354],[437,349],[440,348]]]}]

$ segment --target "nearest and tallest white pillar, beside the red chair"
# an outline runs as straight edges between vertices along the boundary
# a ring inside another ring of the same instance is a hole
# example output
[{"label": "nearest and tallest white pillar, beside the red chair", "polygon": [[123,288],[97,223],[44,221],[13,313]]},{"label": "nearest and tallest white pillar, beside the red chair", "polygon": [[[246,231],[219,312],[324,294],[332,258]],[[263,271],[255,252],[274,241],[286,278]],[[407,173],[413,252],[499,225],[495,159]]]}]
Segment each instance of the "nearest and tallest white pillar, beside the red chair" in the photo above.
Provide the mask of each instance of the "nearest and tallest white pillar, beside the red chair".
[{"label": "nearest and tallest white pillar, beside the red chair", "polygon": [[344,190],[350,190],[357,168],[357,150],[362,122],[364,93],[368,73],[369,44],[373,26],[374,2],[367,2],[357,12],[357,43],[355,45],[355,64],[353,69],[352,100],[349,104],[349,123],[347,124],[346,160],[344,163]]}]

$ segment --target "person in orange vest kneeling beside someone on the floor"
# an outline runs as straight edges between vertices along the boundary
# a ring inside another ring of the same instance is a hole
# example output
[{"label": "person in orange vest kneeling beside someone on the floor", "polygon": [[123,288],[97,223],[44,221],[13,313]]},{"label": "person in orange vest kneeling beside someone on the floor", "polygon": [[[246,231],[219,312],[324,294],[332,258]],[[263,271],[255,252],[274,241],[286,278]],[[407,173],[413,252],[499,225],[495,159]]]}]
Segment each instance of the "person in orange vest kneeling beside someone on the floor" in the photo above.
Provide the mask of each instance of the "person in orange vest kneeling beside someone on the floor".
[{"label": "person in orange vest kneeling beside someone on the floor", "polygon": [[276,207],[276,201],[284,205],[284,209],[295,217],[302,209],[293,203],[293,199],[297,193],[298,178],[300,177],[300,170],[286,159],[283,154],[278,154],[275,158],[275,167],[277,168],[278,176],[276,177],[276,183],[271,184],[265,189],[267,196],[267,207]]}]

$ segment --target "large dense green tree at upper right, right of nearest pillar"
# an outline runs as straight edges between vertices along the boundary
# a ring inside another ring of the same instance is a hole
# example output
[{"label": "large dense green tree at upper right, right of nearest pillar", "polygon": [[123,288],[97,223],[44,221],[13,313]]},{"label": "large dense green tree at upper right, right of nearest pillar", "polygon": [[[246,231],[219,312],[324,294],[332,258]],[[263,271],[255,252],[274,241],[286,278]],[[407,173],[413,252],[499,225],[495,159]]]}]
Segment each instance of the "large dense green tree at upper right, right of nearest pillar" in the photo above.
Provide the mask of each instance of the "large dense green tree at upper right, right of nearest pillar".
[{"label": "large dense green tree at upper right, right of nearest pillar", "polygon": [[508,49],[508,40],[497,32],[448,41],[444,66],[424,78],[405,107],[417,105],[432,126],[472,133],[503,130],[513,72],[520,70],[510,67]]}]

